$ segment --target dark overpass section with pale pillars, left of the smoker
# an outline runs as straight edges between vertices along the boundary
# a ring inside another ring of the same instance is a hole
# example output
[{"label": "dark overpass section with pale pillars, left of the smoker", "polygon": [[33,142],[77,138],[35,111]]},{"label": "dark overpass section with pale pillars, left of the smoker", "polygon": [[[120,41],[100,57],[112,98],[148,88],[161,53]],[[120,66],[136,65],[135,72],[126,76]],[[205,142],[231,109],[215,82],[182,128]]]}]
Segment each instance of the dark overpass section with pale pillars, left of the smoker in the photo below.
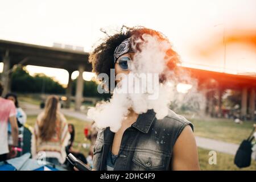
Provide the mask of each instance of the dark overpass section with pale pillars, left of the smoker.
[{"label": "dark overpass section with pale pillars, left of the smoker", "polygon": [[10,73],[15,64],[36,65],[40,67],[52,67],[65,69],[69,73],[67,87],[67,106],[70,104],[73,71],[79,71],[76,85],[76,110],[80,109],[83,92],[82,72],[92,71],[88,62],[89,53],[62,49],[56,47],[37,46],[26,43],[10,42],[0,40],[0,61],[3,61],[2,83],[4,84],[3,94],[10,91]]}]

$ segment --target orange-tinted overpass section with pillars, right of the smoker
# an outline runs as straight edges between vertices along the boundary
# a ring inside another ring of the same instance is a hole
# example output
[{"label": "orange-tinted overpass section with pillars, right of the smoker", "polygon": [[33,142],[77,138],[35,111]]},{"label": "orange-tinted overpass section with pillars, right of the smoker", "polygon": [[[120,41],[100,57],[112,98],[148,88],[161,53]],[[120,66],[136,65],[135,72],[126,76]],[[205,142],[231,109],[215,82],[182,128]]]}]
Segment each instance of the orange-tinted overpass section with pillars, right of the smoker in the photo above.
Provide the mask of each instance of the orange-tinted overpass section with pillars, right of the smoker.
[{"label": "orange-tinted overpass section with pillars, right of the smoker", "polygon": [[[241,91],[241,118],[246,118],[248,114],[250,118],[255,117],[256,77],[232,75],[195,68],[184,69],[191,73],[192,77],[197,78],[199,89],[201,92],[204,92],[207,98],[209,114],[221,114],[222,94],[224,90],[231,89]],[[216,104],[213,103],[214,94],[217,95]],[[214,109],[214,106],[217,106],[217,111]]]}]

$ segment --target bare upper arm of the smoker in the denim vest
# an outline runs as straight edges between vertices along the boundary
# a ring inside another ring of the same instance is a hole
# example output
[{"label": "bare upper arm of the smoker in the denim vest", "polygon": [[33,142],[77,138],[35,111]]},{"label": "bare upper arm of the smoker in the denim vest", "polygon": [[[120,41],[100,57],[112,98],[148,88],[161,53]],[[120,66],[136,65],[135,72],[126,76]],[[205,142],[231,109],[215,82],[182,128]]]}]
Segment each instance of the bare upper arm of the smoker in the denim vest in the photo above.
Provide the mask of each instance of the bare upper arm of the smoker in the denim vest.
[{"label": "bare upper arm of the smoker in the denim vest", "polygon": [[190,126],[186,126],[176,140],[171,169],[174,171],[200,170],[196,140]]}]

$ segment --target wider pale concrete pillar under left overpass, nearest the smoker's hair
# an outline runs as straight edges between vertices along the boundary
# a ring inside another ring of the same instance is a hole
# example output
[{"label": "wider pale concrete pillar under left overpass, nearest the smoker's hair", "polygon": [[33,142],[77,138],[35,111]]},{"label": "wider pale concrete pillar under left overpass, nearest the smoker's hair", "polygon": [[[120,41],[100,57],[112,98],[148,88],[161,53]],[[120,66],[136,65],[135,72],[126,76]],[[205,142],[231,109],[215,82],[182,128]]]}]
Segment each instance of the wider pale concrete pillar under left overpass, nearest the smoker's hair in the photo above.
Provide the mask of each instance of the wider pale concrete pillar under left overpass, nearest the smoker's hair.
[{"label": "wider pale concrete pillar under left overpass, nearest the smoker's hair", "polygon": [[82,93],[84,92],[84,79],[82,73],[84,72],[84,66],[79,65],[79,76],[76,82],[76,98],[75,98],[75,110],[80,110],[82,105]]}]

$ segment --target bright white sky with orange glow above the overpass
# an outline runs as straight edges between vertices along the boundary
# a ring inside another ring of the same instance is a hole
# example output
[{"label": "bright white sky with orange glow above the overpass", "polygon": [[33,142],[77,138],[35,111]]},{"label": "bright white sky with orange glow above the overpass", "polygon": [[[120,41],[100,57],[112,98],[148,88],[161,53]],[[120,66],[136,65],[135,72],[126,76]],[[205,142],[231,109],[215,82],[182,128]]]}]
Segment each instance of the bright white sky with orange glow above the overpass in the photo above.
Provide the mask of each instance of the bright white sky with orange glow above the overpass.
[{"label": "bright white sky with orange glow above the overpass", "polygon": [[[54,42],[71,44],[92,51],[104,36],[100,28],[111,33],[123,24],[139,25],[163,32],[185,66],[230,73],[256,72],[255,41],[243,39],[243,35],[255,38],[254,0],[0,0],[0,6],[0,39],[43,46]],[[238,42],[228,42],[229,36],[241,35]],[[2,66],[0,63],[0,71]],[[66,71],[34,66],[27,69],[31,75],[43,72],[67,84]],[[84,73],[84,78],[90,77],[88,74]],[[76,75],[73,73],[72,77]]]}]

